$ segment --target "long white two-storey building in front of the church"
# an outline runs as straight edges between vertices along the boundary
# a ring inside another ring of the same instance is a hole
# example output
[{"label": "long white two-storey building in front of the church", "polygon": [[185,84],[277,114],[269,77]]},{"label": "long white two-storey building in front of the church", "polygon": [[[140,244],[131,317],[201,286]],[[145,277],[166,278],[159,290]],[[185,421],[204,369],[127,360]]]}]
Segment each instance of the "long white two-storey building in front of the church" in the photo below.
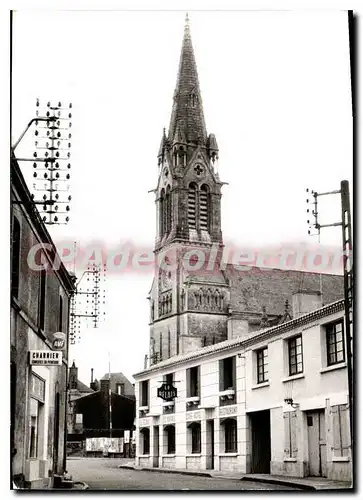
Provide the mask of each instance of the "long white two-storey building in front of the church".
[{"label": "long white two-storey building in front of the church", "polygon": [[[136,374],[136,465],[351,480],[343,309],[295,309],[238,338],[230,328]],[[157,397],[163,380],[175,400]]]}]

